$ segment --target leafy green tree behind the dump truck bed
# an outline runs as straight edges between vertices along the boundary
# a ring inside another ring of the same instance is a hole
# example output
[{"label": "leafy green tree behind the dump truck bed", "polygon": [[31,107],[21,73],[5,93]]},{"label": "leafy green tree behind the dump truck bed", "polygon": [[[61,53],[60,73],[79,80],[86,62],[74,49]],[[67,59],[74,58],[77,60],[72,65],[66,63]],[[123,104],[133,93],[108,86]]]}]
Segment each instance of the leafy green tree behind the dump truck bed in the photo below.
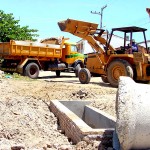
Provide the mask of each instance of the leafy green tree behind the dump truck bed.
[{"label": "leafy green tree behind the dump truck bed", "polygon": [[29,29],[29,26],[21,27],[19,20],[15,20],[13,14],[6,14],[0,10],[0,41],[9,42],[10,40],[31,40],[36,41],[36,29]]}]

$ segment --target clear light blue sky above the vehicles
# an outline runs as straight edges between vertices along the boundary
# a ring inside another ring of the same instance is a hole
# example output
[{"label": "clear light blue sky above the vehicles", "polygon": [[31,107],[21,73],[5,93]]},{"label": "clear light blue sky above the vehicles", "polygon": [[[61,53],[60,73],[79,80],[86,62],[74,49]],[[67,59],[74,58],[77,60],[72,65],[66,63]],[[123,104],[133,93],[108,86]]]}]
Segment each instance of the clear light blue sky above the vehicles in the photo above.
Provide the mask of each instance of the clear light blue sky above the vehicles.
[{"label": "clear light blue sky above the vehicles", "polygon": [[[38,39],[64,36],[72,42],[80,38],[60,31],[58,22],[75,19],[100,24],[103,10],[102,26],[105,30],[125,26],[139,26],[147,29],[147,40],[150,40],[150,17],[146,8],[150,8],[150,0],[0,0],[0,9],[5,13],[13,13],[21,26],[28,25],[37,29]],[[143,37],[138,37],[139,42]]]}]

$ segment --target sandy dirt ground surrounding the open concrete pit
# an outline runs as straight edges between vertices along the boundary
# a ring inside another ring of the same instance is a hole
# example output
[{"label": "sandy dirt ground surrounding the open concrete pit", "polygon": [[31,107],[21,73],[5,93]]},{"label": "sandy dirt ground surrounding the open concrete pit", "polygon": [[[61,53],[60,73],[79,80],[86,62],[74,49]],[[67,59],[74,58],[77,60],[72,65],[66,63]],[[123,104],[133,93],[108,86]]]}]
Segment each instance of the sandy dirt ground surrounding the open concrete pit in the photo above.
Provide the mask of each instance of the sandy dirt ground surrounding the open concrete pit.
[{"label": "sandy dirt ground surrounding the open concrete pit", "polygon": [[0,150],[94,150],[99,141],[73,145],[49,110],[51,100],[90,100],[91,106],[115,116],[117,88],[92,77],[81,84],[74,73],[41,72],[37,80],[0,78]]}]

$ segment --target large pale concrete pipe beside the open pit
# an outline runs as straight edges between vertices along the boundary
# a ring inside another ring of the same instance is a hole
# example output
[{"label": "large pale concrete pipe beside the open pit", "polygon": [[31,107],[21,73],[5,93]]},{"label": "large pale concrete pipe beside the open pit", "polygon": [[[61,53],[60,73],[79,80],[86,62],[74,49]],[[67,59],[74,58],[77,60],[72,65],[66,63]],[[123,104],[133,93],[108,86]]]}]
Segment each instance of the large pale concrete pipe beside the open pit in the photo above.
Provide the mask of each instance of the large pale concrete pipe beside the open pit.
[{"label": "large pale concrete pipe beside the open pit", "polygon": [[150,85],[120,77],[116,113],[120,149],[150,148]]}]

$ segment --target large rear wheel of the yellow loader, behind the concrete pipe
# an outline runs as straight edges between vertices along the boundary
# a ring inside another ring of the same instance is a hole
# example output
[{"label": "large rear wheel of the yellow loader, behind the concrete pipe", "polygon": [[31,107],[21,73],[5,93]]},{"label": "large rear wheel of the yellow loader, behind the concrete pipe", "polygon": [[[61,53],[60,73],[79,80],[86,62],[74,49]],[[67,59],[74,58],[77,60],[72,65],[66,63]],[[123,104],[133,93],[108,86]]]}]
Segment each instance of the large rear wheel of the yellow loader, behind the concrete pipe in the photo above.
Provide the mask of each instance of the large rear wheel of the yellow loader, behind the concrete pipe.
[{"label": "large rear wheel of the yellow loader, behind the concrete pipe", "polygon": [[128,76],[133,78],[133,69],[128,61],[116,59],[112,61],[107,68],[108,82],[113,87],[118,87],[118,79],[120,76]]}]

